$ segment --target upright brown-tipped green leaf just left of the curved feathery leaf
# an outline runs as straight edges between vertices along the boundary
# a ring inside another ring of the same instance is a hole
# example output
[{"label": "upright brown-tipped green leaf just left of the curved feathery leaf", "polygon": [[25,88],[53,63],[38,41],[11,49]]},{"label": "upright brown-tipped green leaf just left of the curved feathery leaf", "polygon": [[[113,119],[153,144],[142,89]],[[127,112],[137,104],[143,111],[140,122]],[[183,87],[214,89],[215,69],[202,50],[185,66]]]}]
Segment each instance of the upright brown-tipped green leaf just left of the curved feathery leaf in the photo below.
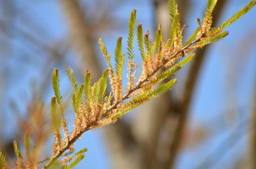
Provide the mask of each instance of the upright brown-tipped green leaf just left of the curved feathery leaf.
[{"label": "upright brown-tipped green leaf just left of the curved feathery leaf", "polygon": [[58,68],[54,68],[54,70],[52,71],[52,88],[56,96],[57,102],[61,104],[60,77],[58,71]]}]

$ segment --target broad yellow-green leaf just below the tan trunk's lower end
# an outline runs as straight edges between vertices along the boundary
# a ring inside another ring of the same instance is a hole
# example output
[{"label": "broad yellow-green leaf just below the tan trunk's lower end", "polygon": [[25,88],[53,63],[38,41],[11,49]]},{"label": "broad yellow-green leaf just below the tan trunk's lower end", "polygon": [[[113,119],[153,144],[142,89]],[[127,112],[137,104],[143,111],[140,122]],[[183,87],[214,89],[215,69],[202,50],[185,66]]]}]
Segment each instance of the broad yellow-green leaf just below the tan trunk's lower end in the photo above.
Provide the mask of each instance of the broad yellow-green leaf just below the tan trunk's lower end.
[{"label": "broad yellow-green leaf just below the tan trunk's lower end", "polygon": [[93,85],[92,96],[95,101],[101,102],[105,96],[108,82],[108,70],[105,70],[102,77]]}]

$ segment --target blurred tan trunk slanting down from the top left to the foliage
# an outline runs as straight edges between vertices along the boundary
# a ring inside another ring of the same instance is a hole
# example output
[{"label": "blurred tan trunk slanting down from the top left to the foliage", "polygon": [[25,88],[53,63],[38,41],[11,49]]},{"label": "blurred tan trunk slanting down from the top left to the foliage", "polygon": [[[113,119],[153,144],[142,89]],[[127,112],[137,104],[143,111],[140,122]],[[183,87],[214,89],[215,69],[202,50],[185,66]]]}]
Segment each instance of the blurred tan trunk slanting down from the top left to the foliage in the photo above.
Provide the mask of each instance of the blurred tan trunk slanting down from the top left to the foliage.
[{"label": "blurred tan trunk slanting down from the top left to the foliage", "polygon": [[61,0],[63,13],[67,18],[71,45],[77,55],[81,57],[84,68],[92,72],[92,81],[96,82],[100,77],[102,69],[95,54],[95,45],[88,31],[86,17],[77,0]]}]

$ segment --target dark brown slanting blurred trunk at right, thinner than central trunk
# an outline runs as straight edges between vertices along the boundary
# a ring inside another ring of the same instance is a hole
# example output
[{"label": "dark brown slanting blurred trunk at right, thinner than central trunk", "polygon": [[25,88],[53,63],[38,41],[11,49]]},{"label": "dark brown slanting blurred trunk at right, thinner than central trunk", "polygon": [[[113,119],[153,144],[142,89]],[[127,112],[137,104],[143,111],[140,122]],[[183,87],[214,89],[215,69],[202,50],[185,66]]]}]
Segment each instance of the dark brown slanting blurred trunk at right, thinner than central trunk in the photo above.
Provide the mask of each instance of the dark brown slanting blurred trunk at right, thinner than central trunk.
[{"label": "dark brown slanting blurred trunk at right, thinner than central trunk", "polygon": [[[213,23],[216,26],[218,20],[221,17],[221,13],[227,4],[228,1],[218,1],[216,7],[213,11]],[[202,65],[204,64],[205,54],[209,46],[204,47],[202,50],[196,52],[195,59],[191,62],[191,67],[189,68],[188,75],[185,82],[184,92],[182,96],[182,102],[178,103],[179,107],[176,109],[177,112],[177,126],[175,126],[174,133],[170,138],[170,149],[168,153],[168,158],[165,160],[166,163],[164,168],[170,169],[174,168],[175,159],[177,158],[177,154],[179,153],[180,143],[182,142],[184,128],[188,123],[188,114],[189,108],[193,99],[193,95],[195,94],[196,82],[200,75],[200,70]],[[172,118],[172,117],[170,117]],[[171,126],[170,126],[171,125]],[[167,125],[167,128],[173,127],[172,123]]]}]

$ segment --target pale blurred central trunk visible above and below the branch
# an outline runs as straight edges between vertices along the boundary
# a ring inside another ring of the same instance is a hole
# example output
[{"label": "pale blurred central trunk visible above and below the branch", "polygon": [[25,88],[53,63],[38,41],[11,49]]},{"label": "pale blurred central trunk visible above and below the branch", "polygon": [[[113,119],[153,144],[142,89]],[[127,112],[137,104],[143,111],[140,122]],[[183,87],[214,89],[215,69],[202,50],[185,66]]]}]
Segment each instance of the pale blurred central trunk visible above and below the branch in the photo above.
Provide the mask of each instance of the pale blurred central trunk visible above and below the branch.
[{"label": "pale blurred central trunk visible above and below the branch", "polygon": [[[180,18],[184,23],[188,1],[179,0]],[[161,24],[164,40],[168,38],[170,30],[170,19],[168,13],[168,1],[154,1],[156,23]],[[157,27],[157,25],[155,26]],[[141,105],[134,116],[132,131],[135,140],[141,147],[140,168],[159,168],[157,163],[157,149],[159,138],[163,128],[166,115],[172,112],[172,98],[170,93],[152,99],[148,103]]]}]

